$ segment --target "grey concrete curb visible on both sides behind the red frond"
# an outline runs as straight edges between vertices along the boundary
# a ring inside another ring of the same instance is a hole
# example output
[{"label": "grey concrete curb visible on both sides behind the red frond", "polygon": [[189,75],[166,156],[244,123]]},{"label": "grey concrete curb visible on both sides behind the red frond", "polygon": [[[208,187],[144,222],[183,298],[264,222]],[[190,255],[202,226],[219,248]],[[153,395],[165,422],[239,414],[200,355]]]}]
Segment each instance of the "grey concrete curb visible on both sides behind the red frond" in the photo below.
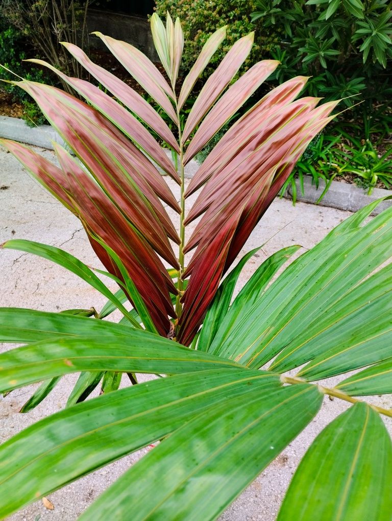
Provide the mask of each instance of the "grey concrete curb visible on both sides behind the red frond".
[{"label": "grey concrete curb visible on both sides behind the red frond", "polygon": [[[60,138],[57,132],[49,125],[41,125],[39,127],[29,127],[22,119],[10,118],[8,116],[0,116],[0,137],[6,139],[12,139],[21,143],[27,143],[28,145],[41,146],[42,148],[49,148],[53,150],[53,144],[51,141],[56,141],[63,146],[66,146],[64,141]],[[67,146],[66,146],[67,147]],[[168,150],[164,149],[165,153],[170,157],[171,154]],[[192,159],[185,170],[185,177],[191,178],[198,168],[198,163],[195,159]],[[392,196],[392,190],[383,190],[381,188],[375,188],[371,195],[367,195],[364,190],[358,188],[355,184],[340,183],[338,181],[332,181],[330,188],[324,195],[320,203],[317,203],[320,195],[322,194],[325,183],[321,179],[319,183],[319,189],[312,184],[311,177],[304,178],[304,190],[305,194],[302,194],[301,187],[298,179],[296,180],[297,186],[297,201],[304,203],[319,204],[320,206],[331,206],[332,208],[338,208],[340,210],[348,210],[349,212],[357,212],[360,208],[363,208],[366,204],[371,203],[380,197]],[[292,189],[289,188],[285,194],[287,199],[292,199]],[[392,201],[384,201],[375,208],[372,215],[377,215],[385,208],[392,205]]]}]

